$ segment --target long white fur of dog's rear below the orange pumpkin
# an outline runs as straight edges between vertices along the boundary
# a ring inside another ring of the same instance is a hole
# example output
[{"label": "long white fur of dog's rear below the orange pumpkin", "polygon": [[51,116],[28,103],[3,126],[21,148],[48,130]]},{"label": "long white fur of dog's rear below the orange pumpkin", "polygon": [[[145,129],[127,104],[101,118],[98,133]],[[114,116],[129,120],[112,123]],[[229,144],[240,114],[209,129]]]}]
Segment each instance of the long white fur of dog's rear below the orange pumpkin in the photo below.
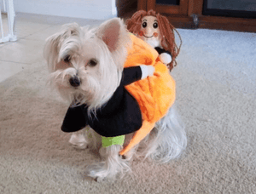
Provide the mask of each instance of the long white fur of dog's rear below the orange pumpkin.
[{"label": "long white fur of dog's rear below the orange pumpkin", "polygon": [[183,122],[172,106],[167,115],[156,123],[153,138],[148,138],[145,157],[167,163],[180,156],[187,146],[187,136]]}]

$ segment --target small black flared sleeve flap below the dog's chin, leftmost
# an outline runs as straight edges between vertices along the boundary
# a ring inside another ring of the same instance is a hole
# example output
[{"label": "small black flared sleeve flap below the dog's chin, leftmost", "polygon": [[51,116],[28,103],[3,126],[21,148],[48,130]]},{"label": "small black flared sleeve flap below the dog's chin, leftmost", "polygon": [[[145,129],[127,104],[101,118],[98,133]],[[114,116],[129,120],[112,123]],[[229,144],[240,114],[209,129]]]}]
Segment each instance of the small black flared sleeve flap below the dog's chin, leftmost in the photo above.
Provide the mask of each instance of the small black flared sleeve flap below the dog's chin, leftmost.
[{"label": "small black flared sleeve flap below the dog's chin, leftmost", "polygon": [[75,132],[84,128],[87,125],[82,106],[70,106],[67,110],[66,116],[61,126],[64,132]]}]

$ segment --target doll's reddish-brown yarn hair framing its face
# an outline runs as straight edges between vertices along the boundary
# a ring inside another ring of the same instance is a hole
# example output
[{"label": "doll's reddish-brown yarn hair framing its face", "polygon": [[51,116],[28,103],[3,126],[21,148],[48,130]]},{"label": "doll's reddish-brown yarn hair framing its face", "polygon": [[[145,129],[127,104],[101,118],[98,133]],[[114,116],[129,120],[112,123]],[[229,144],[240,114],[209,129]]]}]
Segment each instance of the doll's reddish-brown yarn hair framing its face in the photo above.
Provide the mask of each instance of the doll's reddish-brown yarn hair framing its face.
[{"label": "doll's reddish-brown yarn hair framing its face", "polygon": [[[169,20],[165,16],[156,14],[154,10],[149,10],[148,12],[140,10],[133,14],[131,19],[128,19],[125,22],[128,31],[137,35],[141,30],[142,20],[145,16],[154,16],[158,20],[161,45],[165,50],[172,54],[172,61],[168,64],[169,70],[172,71],[173,66],[177,66],[176,57],[179,54],[182,45],[182,39],[175,27],[170,24]],[[177,32],[177,35],[180,38],[179,48],[177,48],[177,44],[175,43],[174,31]]]}]

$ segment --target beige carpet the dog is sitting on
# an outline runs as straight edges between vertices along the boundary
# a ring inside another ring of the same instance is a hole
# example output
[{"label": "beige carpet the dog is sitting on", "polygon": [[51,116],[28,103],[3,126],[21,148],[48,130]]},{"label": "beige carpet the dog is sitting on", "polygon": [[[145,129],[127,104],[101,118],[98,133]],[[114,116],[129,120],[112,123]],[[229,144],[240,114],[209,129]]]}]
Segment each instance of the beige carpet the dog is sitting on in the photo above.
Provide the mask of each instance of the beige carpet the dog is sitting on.
[{"label": "beige carpet the dog is sitting on", "polygon": [[68,145],[60,129],[67,104],[46,86],[40,60],[0,83],[0,193],[256,193],[255,66],[237,59],[243,45],[223,54],[214,43],[254,36],[180,32],[183,50],[172,75],[189,140],[182,157],[167,164],[137,158],[122,180],[87,178],[84,168],[99,158]]}]

